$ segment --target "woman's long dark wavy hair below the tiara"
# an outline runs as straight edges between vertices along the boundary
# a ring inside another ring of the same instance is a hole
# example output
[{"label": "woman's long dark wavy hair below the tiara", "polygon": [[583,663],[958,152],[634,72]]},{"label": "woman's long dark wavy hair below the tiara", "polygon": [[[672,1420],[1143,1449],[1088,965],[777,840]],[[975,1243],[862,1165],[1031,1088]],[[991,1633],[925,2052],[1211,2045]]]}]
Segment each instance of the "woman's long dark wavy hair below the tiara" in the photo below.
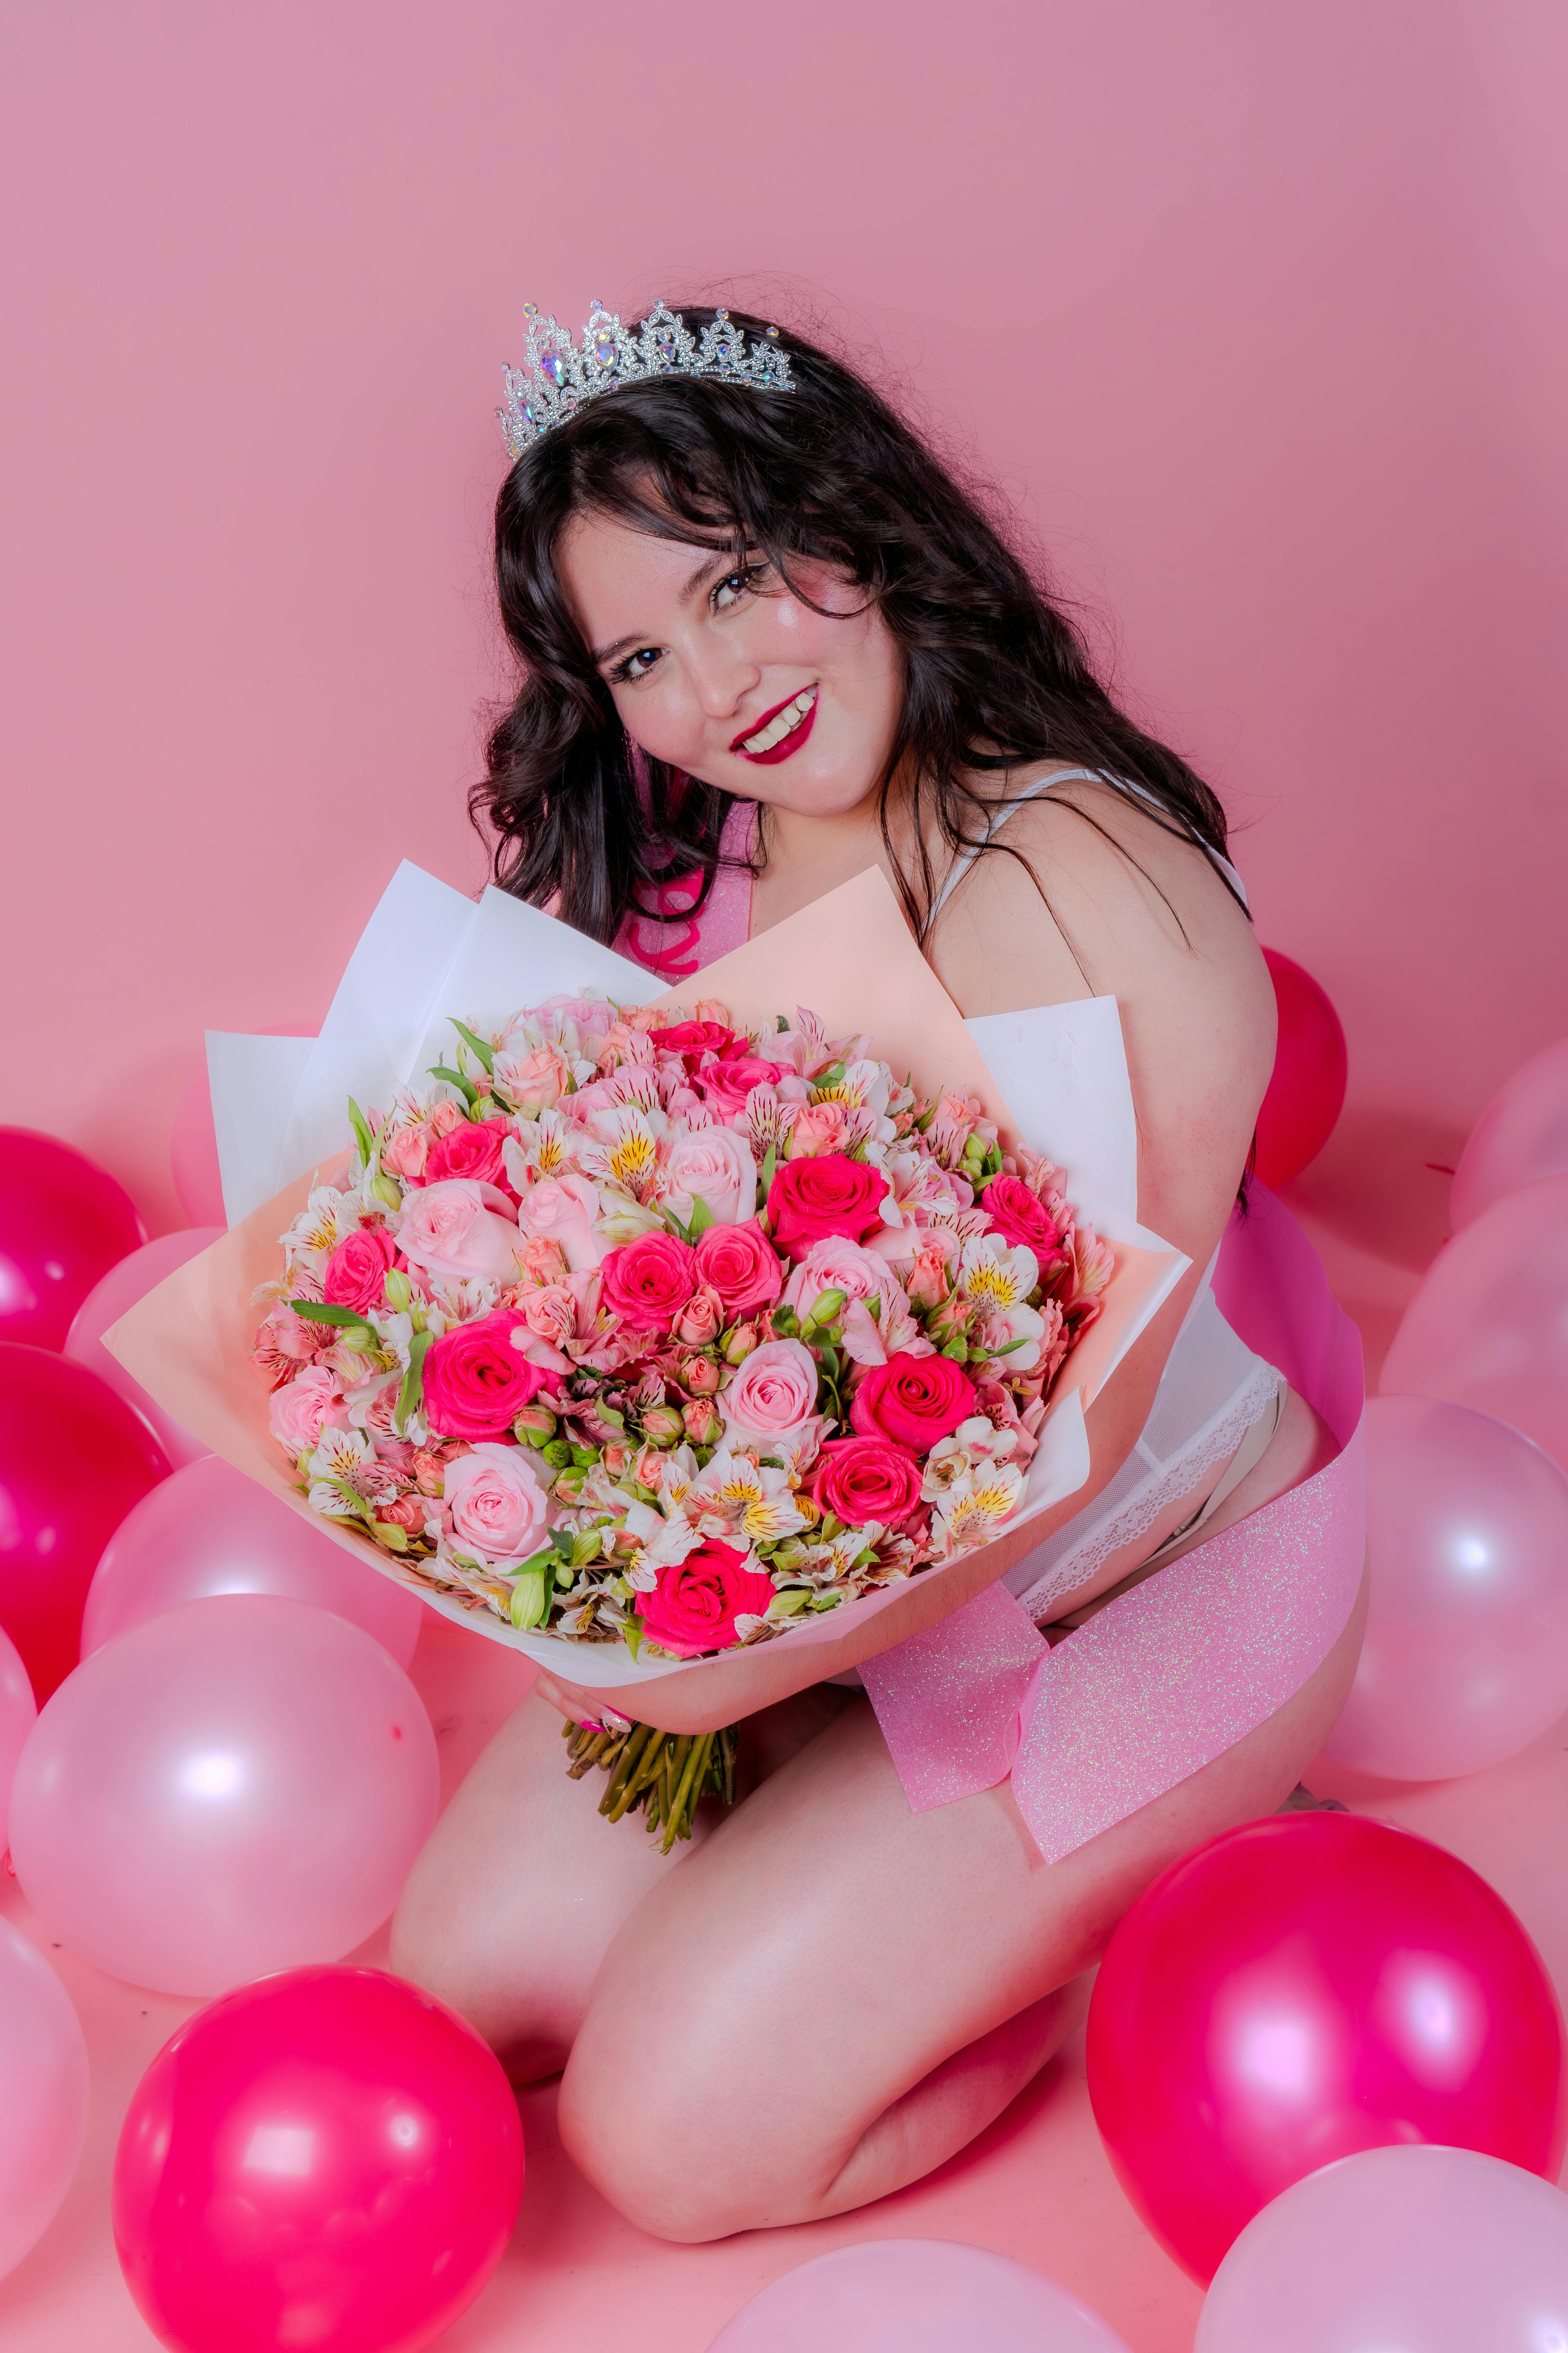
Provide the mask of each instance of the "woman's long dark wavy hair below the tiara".
[{"label": "woman's long dark wavy hair below the tiara", "polygon": [[[701,332],[715,313],[684,315]],[[762,334],[762,320],[731,318]],[[534,904],[559,896],[567,922],[611,941],[628,918],[654,915],[677,875],[698,878],[701,908],[719,861],[731,795],[635,751],[567,605],[555,551],[583,513],[762,560],[797,595],[792,567],[811,558],[875,600],[905,661],[882,835],[919,939],[947,861],[985,847],[987,779],[1034,760],[1143,786],[1145,814],[1225,854],[1211,788],[1117,708],[1077,626],[980,499],[851,367],[799,334],[780,341],[795,391],[628,384],[524,449],[501,485],[496,586],[522,685],[470,793],[475,824],[496,835],[496,882]],[[893,776],[914,795],[912,873],[893,854]],[[1041,887],[1004,838],[990,849]]]}]

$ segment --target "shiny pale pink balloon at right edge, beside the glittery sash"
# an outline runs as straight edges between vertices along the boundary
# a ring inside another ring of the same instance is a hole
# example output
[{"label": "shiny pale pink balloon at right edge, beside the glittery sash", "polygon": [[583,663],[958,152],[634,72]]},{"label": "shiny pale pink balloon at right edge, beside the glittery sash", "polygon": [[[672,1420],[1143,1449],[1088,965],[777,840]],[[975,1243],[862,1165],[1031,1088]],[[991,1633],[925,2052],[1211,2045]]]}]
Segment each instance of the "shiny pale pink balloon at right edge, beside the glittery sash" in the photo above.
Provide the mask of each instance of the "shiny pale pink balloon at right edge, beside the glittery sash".
[{"label": "shiny pale pink balloon at right edge, beside the glittery sash", "polygon": [[1552,1457],[1465,1405],[1371,1398],[1366,1541],[1366,1640],[1328,1755],[1443,1781],[1528,1748],[1568,1708],[1568,1478]]}]

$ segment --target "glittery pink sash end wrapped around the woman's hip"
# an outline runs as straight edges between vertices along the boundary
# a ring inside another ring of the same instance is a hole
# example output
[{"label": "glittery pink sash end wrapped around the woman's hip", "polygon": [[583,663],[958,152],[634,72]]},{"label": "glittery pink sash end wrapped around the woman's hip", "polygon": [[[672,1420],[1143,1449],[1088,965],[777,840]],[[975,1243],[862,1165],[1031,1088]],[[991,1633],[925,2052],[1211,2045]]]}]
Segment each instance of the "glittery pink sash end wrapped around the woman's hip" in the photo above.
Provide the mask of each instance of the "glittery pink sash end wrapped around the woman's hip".
[{"label": "glittery pink sash end wrapped around the woman's hip", "polygon": [[1011,1774],[1018,1812],[1056,1864],[1234,1748],[1345,1631],[1366,1555],[1361,1334],[1295,1219],[1258,1184],[1246,1217],[1232,1217],[1213,1287],[1340,1454],[1056,1649],[997,1584],[860,1661],[917,1814]]}]

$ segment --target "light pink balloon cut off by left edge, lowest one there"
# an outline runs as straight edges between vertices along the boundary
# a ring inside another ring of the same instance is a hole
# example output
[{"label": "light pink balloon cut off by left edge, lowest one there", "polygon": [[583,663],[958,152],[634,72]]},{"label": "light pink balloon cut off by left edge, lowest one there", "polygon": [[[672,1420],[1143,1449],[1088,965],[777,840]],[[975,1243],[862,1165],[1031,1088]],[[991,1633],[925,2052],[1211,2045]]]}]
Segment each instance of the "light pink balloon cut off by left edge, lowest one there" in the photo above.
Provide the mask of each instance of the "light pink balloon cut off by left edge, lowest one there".
[{"label": "light pink balloon cut off by left edge, lowest one there", "polygon": [[0,1920],[0,2273],[54,2221],[87,2139],[87,2042],[35,1944]]}]

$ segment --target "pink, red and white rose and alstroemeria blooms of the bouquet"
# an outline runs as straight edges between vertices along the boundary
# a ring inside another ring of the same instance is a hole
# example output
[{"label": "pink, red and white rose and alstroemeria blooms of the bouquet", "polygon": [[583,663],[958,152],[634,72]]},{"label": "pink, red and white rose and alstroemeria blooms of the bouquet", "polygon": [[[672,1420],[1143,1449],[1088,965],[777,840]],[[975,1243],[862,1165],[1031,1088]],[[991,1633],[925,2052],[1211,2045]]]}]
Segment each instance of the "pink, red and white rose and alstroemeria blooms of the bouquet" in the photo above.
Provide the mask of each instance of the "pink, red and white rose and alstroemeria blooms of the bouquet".
[{"label": "pink, red and white rose and alstroemeria blooms of the bouquet", "polygon": [[470,1607],[705,1657],[990,1541],[1110,1249],[980,1106],[797,1012],[552,998],[282,1235],[254,1362],[310,1506]]}]

